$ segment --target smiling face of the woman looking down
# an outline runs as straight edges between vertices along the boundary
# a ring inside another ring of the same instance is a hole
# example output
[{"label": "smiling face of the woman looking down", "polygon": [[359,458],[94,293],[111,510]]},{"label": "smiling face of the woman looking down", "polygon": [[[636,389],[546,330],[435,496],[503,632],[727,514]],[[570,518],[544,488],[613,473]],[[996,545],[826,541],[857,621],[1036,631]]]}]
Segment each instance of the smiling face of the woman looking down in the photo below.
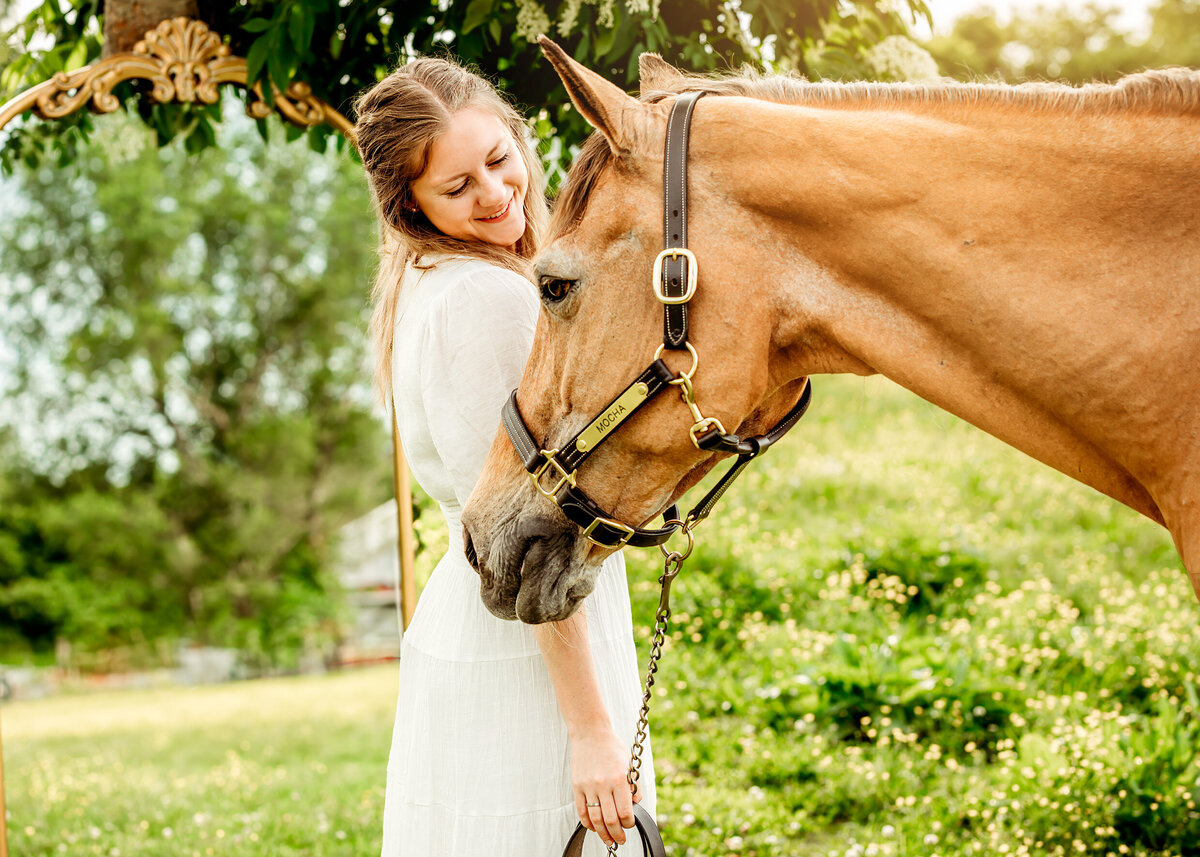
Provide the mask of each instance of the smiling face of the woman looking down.
[{"label": "smiling face of the woman looking down", "polygon": [[450,118],[430,146],[413,196],[430,222],[450,238],[514,246],[524,234],[529,173],[508,127],[468,107]]}]

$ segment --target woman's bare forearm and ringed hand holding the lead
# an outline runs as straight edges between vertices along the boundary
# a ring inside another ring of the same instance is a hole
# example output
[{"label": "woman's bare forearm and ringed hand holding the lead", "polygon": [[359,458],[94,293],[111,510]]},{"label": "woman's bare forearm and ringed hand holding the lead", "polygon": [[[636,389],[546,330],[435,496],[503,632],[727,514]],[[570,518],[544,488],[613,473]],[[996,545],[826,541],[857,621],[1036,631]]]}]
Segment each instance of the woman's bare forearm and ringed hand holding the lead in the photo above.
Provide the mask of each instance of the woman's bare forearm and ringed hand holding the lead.
[{"label": "woman's bare forearm and ringed hand holding the lead", "polygon": [[[624,844],[622,828],[634,826],[634,801],[640,797],[630,793],[629,748],[613,731],[600,695],[586,607],[582,605],[569,619],[534,625],[534,636],[546,659],[571,741],[575,811],[605,845],[613,840]],[[589,803],[600,805],[588,807]]]}]

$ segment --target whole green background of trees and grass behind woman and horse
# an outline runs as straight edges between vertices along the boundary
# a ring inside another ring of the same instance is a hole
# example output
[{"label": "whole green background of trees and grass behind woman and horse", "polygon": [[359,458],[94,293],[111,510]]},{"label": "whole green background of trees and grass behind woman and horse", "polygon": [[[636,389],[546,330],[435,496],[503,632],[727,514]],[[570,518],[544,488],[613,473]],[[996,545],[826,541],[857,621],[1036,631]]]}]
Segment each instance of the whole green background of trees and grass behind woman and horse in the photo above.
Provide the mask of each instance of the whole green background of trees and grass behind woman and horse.
[{"label": "whole green background of trees and grass behind woman and horse", "polygon": [[[137,5],[0,0],[0,104],[98,61]],[[630,90],[643,50],[812,79],[1200,66],[1198,0],[162,6],[347,115],[407,56],[473,62],[551,193],[586,127],[542,31]],[[377,852],[391,667],[176,687],[398,651],[361,168],[328,125],[248,118],[244,89],[148,89],[0,131],[14,852]],[[1200,855],[1200,641],[1165,533],[887,382],[822,379],[814,412],[683,581],[654,721],[670,853]],[[421,580],[445,534],[414,503]],[[647,629],[658,571],[630,563]]]}]

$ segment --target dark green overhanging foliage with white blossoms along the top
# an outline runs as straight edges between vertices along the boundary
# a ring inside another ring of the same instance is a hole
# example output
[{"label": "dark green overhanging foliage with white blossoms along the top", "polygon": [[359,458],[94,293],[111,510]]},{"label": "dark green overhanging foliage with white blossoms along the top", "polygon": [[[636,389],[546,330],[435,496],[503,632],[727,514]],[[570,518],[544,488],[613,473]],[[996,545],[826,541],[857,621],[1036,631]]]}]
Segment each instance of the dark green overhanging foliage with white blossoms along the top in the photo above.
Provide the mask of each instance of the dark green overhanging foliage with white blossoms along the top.
[{"label": "dark green overhanging foliage with white blossoms along the top", "polygon": [[[251,80],[280,90],[305,80],[316,95],[349,114],[355,94],[415,54],[446,52],[491,77],[530,115],[539,133],[570,144],[587,132],[571,112],[558,78],[534,40],[547,32],[577,59],[626,86],[636,86],[637,56],[661,53],[683,68],[710,71],[743,62],[773,64],[808,74],[860,77],[870,73],[865,52],[906,32],[913,16],[928,14],[924,0],[246,0],[200,4],[202,18],[247,59]],[[100,58],[100,0],[43,0],[19,28],[30,49],[0,73],[0,100]],[[121,84],[127,109],[152,126],[163,144],[186,137],[211,145],[211,108],[151,106]],[[4,150],[4,162],[35,160],[53,145],[60,161],[76,157],[88,118],[71,120],[68,134],[23,128]],[[317,148],[329,128],[310,132]]]}]

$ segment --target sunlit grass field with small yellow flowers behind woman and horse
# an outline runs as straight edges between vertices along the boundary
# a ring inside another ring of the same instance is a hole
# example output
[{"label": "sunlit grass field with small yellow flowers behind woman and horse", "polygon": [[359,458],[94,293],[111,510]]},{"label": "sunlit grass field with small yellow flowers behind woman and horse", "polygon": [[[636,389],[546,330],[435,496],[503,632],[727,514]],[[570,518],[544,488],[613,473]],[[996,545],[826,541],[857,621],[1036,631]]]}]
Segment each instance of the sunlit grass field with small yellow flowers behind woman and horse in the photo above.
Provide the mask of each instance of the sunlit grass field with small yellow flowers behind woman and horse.
[{"label": "sunlit grass field with small yellow flowers behind woman and horse", "polygon": [[[1200,855],[1200,606],[1156,525],[818,378],[698,543],[652,712],[670,853]],[[658,553],[626,555],[644,661]],[[383,667],[8,706],[12,853],[378,853],[395,693]]]}]

